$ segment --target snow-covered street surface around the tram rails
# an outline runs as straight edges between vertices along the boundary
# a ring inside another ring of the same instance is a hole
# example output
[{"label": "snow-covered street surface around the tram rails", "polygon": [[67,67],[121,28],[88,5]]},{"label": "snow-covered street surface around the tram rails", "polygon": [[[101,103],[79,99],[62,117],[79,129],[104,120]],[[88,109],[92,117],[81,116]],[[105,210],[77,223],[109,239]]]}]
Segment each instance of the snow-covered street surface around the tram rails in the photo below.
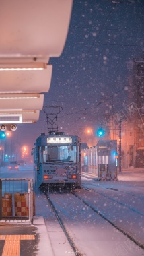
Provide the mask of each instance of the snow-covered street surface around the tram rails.
[{"label": "snow-covered street surface around the tram rails", "polygon": [[[1,177],[5,175],[7,171],[1,170]],[[33,177],[30,169],[11,175]],[[36,191],[36,215],[44,216],[54,256],[144,255],[144,168],[122,170],[118,179],[100,182],[82,177],[87,190],[49,194],[77,253],[69,245],[45,195]]]}]

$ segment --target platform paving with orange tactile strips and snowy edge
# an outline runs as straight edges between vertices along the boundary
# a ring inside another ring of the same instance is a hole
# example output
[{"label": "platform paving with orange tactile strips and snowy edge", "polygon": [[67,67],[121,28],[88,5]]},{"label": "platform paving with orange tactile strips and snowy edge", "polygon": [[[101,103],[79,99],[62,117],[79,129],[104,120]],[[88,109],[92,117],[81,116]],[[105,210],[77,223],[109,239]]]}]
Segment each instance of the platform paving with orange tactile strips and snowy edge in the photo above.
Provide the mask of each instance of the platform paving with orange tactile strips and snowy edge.
[{"label": "platform paving with orange tactile strips and snowy edge", "polygon": [[42,216],[34,216],[29,226],[0,224],[1,256],[53,256]]}]

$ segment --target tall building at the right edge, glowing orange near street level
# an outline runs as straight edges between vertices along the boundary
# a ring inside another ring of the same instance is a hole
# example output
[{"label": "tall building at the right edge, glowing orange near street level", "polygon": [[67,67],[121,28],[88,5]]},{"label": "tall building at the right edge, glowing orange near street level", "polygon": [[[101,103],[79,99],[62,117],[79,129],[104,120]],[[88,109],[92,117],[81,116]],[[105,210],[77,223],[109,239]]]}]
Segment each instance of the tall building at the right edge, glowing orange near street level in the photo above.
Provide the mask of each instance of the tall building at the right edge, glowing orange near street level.
[{"label": "tall building at the right edge, glowing orange near street level", "polygon": [[139,168],[144,167],[144,58],[128,67],[127,106],[108,121],[108,137],[118,141],[122,168]]}]

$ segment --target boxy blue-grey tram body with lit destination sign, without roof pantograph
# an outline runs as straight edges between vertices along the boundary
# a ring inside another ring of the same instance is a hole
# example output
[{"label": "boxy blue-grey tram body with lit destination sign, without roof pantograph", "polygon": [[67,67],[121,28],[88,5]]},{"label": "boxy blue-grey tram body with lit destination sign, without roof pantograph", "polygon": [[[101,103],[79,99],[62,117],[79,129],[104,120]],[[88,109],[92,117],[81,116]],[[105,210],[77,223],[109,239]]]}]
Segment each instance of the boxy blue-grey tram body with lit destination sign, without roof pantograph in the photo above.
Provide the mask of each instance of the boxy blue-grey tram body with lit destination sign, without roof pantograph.
[{"label": "boxy blue-grey tram body with lit destination sign, without roof pantograph", "polygon": [[81,187],[80,138],[51,131],[36,139],[34,185],[37,189],[75,189]]}]

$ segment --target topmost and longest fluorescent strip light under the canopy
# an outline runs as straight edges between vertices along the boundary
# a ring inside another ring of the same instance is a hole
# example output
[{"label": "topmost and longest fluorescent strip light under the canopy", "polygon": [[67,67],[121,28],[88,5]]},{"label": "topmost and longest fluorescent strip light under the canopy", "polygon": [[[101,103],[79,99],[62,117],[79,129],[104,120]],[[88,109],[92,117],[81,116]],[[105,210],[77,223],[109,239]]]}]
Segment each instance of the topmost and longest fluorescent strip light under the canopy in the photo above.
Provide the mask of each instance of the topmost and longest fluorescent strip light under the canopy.
[{"label": "topmost and longest fluorescent strip light under the canopy", "polygon": [[46,63],[35,63],[35,62],[29,62],[29,63],[0,63],[0,71],[3,70],[43,70],[46,69],[47,64]]}]

